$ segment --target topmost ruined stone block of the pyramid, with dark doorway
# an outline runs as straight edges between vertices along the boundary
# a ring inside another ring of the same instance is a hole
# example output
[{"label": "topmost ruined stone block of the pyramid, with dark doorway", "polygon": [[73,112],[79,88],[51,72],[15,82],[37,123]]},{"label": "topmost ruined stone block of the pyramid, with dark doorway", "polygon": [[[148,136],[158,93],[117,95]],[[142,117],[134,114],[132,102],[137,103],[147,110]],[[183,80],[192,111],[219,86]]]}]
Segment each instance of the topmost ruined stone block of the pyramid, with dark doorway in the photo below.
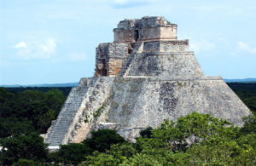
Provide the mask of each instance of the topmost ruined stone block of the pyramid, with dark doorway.
[{"label": "topmost ruined stone block of the pyramid, with dark doorway", "polygon": [[148,40],[176,40],[177,25],[163,17],[143,17],[141,20],[122,20],[113,29],[114,43]]}]

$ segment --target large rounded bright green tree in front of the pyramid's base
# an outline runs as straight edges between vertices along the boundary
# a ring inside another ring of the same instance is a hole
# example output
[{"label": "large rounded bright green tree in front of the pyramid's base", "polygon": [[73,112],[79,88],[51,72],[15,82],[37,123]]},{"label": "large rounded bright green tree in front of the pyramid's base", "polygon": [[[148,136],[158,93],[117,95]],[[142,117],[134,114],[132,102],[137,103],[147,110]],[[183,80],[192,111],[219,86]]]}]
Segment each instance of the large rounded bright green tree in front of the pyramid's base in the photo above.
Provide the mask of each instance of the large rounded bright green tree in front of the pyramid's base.
[{"label": "large rounded bright green tree in front of the pyramid's base", "polygon": [[[193,112],[185,117],[179,117],[177,122],[166,120],[158,129],[152,129],[151,132],[150,138],[137,139],[138,149],[141,151],[139,154],[152,156],[160,164],[182,165],[189,164],[190,157],[196,158],[196,155],[198,155],[198,161],[202,162],[201,156],[204,154],[206,157],[221,159],[221,155],[213,153],[213,150],[218,152],[218,147],[223,148],[223,153],[230,148],[230,151],[224,154],[227,155],[230,152],[234,156],[237,151],[236,138],[239,128],[209,114]],[[196,152],[204,153],[200,156]],[[213,159],[210,161],[212,162]]]}]

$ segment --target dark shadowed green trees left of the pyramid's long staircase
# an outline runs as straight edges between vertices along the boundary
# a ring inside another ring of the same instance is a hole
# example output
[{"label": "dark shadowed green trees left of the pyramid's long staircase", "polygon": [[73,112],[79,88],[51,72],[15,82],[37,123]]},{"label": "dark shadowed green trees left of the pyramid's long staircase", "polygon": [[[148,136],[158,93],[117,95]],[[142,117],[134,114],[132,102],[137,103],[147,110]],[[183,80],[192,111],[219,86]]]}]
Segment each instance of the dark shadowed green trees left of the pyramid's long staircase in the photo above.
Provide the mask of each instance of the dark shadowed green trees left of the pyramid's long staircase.
[{"label": "dark shadowed green trees left of the pyramid's long staircase", "polygon": [[65,99],[57,89],[11,93],[0,88],[0,146],[3,146],[0,156],[3,165],[38,165],[38,161],[47,160],[46,145],[38,134],[46,133]]}]

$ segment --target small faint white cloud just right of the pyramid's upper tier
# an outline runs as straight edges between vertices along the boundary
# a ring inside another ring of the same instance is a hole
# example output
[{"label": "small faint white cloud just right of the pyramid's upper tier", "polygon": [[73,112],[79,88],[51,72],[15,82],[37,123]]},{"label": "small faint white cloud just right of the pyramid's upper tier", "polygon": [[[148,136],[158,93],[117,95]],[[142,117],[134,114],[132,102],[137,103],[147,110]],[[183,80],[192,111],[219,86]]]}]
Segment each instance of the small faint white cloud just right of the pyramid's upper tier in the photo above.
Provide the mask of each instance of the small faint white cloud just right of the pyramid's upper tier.
[{"label": "small faint white cloud just right of the pyramid's upper tier", "polygon": [[190,42],[190,49],[195,52],[202,52],[202,51],[210,51],[216,48],[215,43],[201,40],[201,41],[192,41]]}]

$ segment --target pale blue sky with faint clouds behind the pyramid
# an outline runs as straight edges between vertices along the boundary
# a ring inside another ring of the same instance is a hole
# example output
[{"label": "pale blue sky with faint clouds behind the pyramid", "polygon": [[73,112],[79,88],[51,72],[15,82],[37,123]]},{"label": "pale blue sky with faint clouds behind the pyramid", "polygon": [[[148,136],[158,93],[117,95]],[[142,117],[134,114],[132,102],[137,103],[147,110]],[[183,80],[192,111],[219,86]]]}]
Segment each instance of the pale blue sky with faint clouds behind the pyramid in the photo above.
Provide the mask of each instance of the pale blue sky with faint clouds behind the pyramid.
[{"label": "pale blue sky with faint clouds behind the pyramid", "polygon": [[206,75],[256,77],[254,0],[0,0],[0,84],[92,77],[119,20],[165,16]]}]

